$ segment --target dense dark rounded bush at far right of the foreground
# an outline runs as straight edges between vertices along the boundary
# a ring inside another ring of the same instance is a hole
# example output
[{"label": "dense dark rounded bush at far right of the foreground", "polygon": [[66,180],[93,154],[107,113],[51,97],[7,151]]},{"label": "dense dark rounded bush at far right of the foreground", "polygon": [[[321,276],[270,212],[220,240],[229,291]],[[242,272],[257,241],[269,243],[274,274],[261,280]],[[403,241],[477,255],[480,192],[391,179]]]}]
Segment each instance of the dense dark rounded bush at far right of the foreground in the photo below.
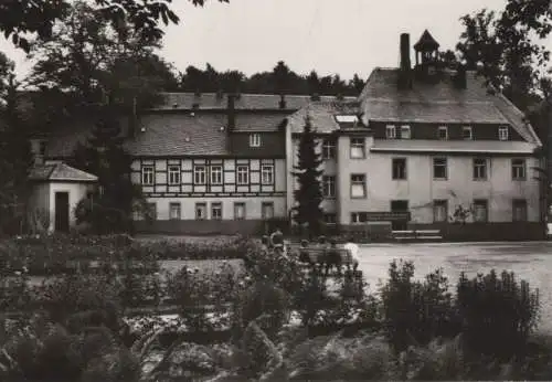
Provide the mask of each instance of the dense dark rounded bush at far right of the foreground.
[{"label": "dense dark rounded bush at far right of the foreground", "polygon": [[470,349],[499,359],[527,350],[529,335],[537,328],[539,290],[518,283],[513,273],[492,269],[468,279],[463,273],[457,285],[457,307],[463,332]]}]

